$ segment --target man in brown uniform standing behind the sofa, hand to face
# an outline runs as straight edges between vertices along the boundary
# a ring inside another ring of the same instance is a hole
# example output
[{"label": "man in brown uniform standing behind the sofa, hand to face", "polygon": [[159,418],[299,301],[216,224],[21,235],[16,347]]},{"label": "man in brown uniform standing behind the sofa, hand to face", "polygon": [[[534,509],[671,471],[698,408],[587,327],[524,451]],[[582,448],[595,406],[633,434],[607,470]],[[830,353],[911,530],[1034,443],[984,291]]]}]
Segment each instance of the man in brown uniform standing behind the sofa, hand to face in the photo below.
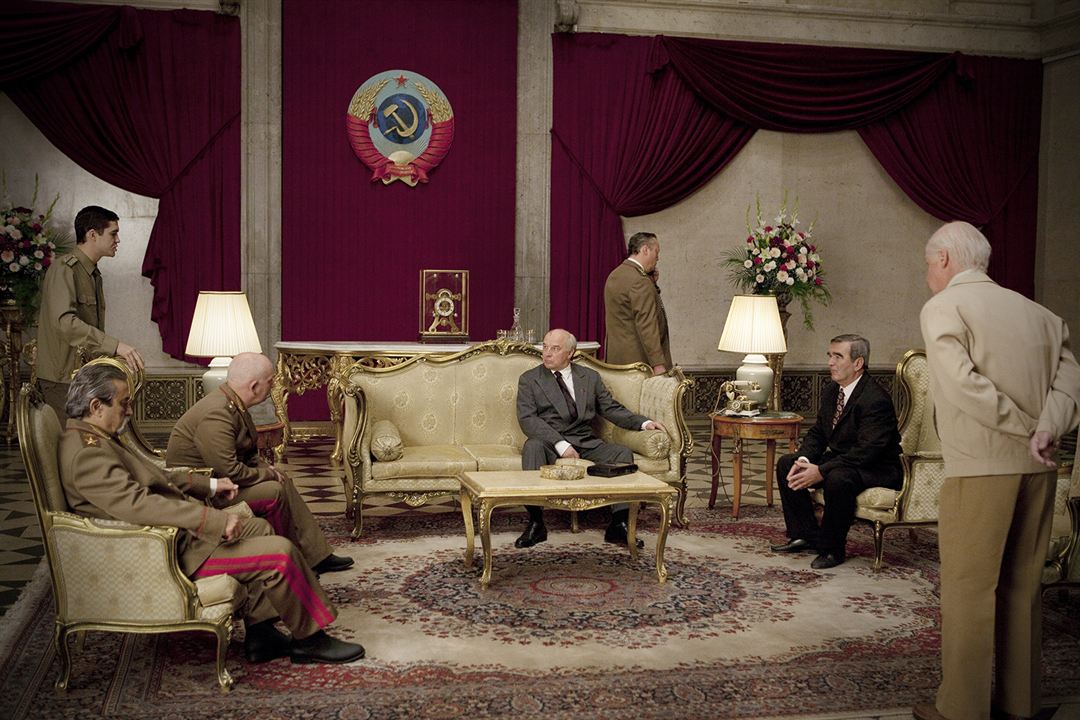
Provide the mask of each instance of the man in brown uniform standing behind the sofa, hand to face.
[{"label": "man in brown uniform standing behind the sofa, hand to face", "polygon": [[654,375],[663,375],[672,368],[672,351],[667,315],[653,281],[660,241],[651,232],[638,232],[631,236],[627,252],[630,257],[604,284],[604,358],[615,365],[645,363]]}]

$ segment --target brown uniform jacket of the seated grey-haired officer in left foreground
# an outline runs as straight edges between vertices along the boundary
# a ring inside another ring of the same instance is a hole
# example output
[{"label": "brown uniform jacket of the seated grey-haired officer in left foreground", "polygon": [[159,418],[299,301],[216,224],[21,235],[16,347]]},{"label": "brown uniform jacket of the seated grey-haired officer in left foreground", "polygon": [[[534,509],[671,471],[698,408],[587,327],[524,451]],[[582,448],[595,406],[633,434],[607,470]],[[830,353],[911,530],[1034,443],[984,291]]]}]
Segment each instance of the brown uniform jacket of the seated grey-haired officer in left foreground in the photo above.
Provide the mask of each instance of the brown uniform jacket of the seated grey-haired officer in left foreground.
[{"label": "brown uniform jacket of the seated grey-haired officer in left foreground", "polygon": [[180,535],[180,567],[192,574],[221,543],[229,517],[197,499],[210,493],[210,478],[161,470],[91,423],[68,420],[67,426],[58,453],[60,483],[71,511],[186,530]]}]

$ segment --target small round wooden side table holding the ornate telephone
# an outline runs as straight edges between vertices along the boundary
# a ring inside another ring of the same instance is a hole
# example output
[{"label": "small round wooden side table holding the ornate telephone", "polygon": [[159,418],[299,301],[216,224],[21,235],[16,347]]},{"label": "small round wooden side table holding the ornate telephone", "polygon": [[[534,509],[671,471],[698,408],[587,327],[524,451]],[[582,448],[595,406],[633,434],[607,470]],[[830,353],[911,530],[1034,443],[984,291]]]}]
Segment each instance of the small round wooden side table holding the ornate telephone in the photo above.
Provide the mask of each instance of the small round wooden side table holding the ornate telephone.
[{"label": "small round wooden side table holding the ornate telephone", "polygon": [[777,440],[787,439],[788,452],[795,452],[802,416],[794,412],[762,412],[753,418],[710,413],[713,421],[713,489],[708,493],[708,507],[716,504],[716,488],[720,483],[720,452],[725,437],[734,440],[731,465],[734,475],[734,497],[731,499],[731,517],[739,517],[742,500],[742,441],[765,440],[765,500],[772,507],[772,478],[777,474]]}]

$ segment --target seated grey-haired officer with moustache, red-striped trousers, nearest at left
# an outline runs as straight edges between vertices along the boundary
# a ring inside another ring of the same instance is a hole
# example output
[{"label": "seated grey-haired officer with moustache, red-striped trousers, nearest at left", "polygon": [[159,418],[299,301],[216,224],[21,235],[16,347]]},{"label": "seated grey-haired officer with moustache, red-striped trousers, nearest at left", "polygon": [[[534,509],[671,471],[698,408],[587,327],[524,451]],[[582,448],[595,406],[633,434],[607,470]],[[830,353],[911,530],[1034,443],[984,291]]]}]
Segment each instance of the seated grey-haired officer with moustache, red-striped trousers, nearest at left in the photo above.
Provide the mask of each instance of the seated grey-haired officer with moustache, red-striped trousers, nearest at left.
[{"label": "seated grey-haired officer with moustache, red-striped trousers, nearest at left", "polygon": [[[364,648],[323,628],[337,616],[296,546],[259,518],[241,518],[203,502],[210,479],[190,471],[163,471],[125,448],[117,433],[132,415],[123,371],[106,365],[79,370],[68,390],[71,417],[60,438],[60,481],[80,515],[184,530],[180,568],[192,579],[229,574],[249,595],[244,653],[253,663],[289,656],[294,663],[350,663]],[[237,486],[217,478],[217,493]],[[278,617],[292,639],[274,627]]]}]

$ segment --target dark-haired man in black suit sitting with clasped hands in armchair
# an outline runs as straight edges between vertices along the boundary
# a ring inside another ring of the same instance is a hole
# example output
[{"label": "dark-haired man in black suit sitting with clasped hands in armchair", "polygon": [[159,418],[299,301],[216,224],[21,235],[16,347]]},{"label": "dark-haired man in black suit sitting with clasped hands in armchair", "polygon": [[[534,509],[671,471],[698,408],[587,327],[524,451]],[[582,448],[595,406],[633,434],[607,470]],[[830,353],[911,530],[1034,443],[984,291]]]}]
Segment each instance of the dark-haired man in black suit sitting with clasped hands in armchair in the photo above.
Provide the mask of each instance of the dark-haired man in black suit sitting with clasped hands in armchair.
[{"label": "dark-haired man in black suit sitting with clasped hands in armchair", "polygon": [[[802,447],[777,463],[777,484],[784,506],[788,542],[778,553],[814,551],[815,570],[835,568],[846,558],[848,530],[855,520],[855,498],[870,487],[899,490],[900,431],[892,398],[866,377],[870,343],[858,335],[840,335],[828,345],[832,383],[824,390],[818,422]],[[825,514],[814,517],[810,488],[821,485]]]}]

